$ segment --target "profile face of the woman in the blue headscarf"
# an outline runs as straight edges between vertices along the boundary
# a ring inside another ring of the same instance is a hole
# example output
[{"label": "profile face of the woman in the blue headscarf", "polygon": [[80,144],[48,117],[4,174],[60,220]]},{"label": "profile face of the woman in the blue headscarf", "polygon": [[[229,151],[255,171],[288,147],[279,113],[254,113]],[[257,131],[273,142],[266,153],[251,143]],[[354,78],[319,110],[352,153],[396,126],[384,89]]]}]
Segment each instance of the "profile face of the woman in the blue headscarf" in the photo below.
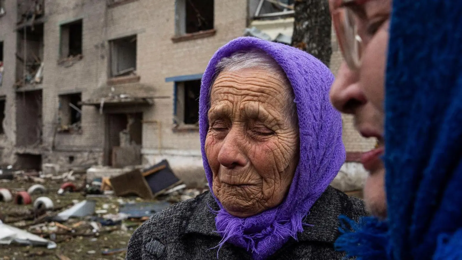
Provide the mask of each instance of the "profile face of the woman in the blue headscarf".
[{"label": "profile face of the woman in the blue headscarf", "polygon": [[365,183],[365,203],[377,217],[386,217],[385,169],[383,153],[384,75],[389,39],[390,0],[370,0],[354,6],[359,35],[365,43],[358,70],[343,62],[330,91],[332,104],[341,112],[353,114],[355,127],[364,137],[377,138],[377,148],[363,155],[370,175]]}]

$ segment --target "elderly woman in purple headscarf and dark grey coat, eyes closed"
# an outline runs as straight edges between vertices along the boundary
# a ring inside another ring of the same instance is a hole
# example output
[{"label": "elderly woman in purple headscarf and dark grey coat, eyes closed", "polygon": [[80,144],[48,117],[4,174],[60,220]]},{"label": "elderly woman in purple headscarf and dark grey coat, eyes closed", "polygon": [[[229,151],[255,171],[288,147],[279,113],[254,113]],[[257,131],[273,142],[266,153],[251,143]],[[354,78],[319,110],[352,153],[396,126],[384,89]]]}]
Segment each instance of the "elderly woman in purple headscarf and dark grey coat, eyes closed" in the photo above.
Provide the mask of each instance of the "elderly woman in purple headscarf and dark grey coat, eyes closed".
[{"label": "elderly woman in purple headscarf and dark grey coat, eyes closed", "polygon": [[309,54],[253,37],[204,73],[199,125],[208,185],[144,223],[128,260],[341,259],[338,217],[362,201],[328,186],[345,160],[333,75]]}]

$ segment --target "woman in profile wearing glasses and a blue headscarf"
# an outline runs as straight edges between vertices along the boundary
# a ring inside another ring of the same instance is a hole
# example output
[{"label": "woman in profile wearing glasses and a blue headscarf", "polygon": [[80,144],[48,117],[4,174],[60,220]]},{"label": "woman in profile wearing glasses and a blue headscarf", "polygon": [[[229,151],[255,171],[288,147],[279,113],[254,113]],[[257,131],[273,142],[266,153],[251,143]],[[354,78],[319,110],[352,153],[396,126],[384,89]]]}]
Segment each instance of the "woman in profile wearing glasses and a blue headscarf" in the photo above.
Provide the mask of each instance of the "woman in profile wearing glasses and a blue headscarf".
[{"label": "woman in profile wearing glasses and a blue headscarf", "polygon": [[358,260],[462,259],[462,2],[330,4],[346,61],[331,101],[378,140],[363,156],[376,217],[345,220],[337,249]]}]

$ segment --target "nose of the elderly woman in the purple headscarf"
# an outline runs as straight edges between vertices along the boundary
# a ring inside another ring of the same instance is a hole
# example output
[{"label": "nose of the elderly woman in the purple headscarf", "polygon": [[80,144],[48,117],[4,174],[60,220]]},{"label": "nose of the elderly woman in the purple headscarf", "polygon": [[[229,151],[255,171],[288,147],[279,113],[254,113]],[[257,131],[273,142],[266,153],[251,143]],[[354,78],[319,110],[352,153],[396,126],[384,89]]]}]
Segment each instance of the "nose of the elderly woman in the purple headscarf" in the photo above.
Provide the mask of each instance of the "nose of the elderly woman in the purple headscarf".
[{"label": "nose of the elderly woman in the purple headscarf", "polygon": [[234,168],[245,166],[247,164],[246,157],[242,153],[242,142],[233,130],[223,140],[223,145],[218,153],[218,161],[226,168]]}]

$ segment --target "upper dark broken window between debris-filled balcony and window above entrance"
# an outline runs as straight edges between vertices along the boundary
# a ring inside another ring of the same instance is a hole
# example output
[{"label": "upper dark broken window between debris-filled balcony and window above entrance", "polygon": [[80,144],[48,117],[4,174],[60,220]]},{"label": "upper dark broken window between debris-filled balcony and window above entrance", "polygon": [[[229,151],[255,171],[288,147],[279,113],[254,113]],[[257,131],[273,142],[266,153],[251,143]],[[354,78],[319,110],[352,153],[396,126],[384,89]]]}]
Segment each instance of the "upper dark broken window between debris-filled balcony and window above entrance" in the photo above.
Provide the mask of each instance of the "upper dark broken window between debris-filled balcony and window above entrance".
[{"label": "upper dark broken window between debris-filled balcony and window above entrance", "polygon": [[82,20],[61,25],[61,58],[82,55]]}]

